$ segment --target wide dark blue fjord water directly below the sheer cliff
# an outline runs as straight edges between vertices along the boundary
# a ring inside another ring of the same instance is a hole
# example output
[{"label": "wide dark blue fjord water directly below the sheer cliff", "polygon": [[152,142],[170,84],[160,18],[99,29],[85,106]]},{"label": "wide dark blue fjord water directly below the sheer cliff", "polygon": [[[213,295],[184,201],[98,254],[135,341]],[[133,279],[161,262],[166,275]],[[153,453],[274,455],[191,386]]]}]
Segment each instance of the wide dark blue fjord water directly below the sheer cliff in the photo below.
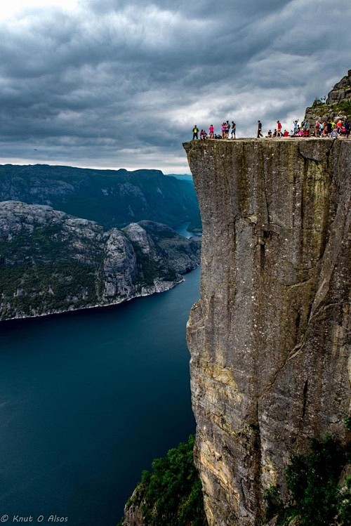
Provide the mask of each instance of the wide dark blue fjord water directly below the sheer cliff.
[{"label": "wide dark blue fjord water directly below the sheer cliff", "polygon": [[1,322],[0,516],[115,525],[141,471],[194,432],[199,272],[115,307]]}]

